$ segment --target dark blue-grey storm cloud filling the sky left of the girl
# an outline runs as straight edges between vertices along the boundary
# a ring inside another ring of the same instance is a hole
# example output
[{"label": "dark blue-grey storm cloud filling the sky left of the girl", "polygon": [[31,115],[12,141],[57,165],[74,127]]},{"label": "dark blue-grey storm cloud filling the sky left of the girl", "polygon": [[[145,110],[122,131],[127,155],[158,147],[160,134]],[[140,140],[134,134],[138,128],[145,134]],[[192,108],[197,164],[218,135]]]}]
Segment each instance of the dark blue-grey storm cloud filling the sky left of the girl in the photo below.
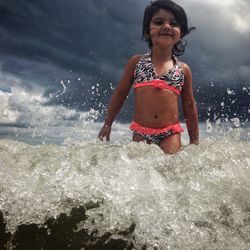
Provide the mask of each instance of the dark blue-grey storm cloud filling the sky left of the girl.
[{"label": "dark blue-grey storm cloud filling the sky left of the girl", "polygon": [[[67,106],[97,108],[117,82],[126,60],[142,44],[142,1],[1,1],[0,66],[24,88],[43,85],[45,95]],[[144,5],[144,4],[143,4]],[[142,46],[143,47],[143,46]],[[141,49],[143,51],[143,49]],[[81,79],[81,82],[77,79]],[[64,95],[59,95],[65,80]],[[109,89],[110,91],[110,89]]]}]

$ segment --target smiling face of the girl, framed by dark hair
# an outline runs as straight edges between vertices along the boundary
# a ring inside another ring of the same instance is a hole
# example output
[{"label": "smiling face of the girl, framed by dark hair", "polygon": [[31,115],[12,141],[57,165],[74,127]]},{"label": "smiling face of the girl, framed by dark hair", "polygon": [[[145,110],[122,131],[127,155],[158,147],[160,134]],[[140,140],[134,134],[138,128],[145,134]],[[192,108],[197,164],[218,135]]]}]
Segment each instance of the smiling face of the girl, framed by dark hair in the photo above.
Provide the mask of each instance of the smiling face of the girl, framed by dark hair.
[{"label": "smiling face of the girl, framed by dark hair", "polygon": [[177,23],[172,12],[160,9],[157,11],[149,25],[149,36],[153,47],[174,47],[181,39],[181,26]]}]

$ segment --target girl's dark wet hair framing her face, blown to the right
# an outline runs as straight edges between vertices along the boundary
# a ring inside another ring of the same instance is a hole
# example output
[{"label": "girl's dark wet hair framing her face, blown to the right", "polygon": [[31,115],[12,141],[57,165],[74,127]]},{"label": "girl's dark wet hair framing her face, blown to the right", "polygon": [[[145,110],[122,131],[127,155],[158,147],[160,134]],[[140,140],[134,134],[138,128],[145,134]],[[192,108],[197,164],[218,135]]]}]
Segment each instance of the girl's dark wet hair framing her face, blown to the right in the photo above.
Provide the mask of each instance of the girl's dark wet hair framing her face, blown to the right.
[{"label": "girl's dark wet hair framing her face, blown to the right", "polygon": [[[170,0],[156,0],[150,2],[150,4],[145,8],[142,26],[142,39],[148,43],[150,49],[153,47],[151,38],[148,36],[150,34],[150,22],[156,12],[159,10],[166,10],[173,13],[177,23],[181,26],[181,38],[194,30],[195,27],[188,27],[187,15],[184,9]],[[184,53],[187,41],[181,40],[177,42],[173,48],[173,54],[180,56]]]}]

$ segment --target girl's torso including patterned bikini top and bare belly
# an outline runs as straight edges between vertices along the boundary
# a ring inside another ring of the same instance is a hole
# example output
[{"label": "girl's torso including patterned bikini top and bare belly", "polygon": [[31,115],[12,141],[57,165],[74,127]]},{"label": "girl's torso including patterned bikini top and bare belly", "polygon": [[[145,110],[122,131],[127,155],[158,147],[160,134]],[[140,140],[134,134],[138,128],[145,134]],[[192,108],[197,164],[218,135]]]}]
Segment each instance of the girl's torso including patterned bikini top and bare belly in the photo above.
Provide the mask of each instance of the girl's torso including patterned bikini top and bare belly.
[{"label": "girl's torso including patterned bikini top and bare belly", "polygon": [[146,127],[161,128],[178,122],[178,96],[184,84],[181,63],[158,77],[151,55],[141,57],[135,66],[134,121]]}]

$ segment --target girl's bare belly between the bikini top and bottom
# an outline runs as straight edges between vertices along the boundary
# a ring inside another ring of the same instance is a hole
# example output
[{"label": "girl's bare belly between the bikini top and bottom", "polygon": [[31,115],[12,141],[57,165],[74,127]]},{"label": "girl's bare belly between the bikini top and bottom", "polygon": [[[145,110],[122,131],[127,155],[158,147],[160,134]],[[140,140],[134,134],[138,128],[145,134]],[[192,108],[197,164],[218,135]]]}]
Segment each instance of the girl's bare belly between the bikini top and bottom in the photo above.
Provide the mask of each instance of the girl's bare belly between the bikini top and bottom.
[{"label": "girl's bare belly between the bikini top and bottom", "polygon": [[134,121],[142,126],[161,128],[178,120],[178,95],[150,86],[135,89]]}]

